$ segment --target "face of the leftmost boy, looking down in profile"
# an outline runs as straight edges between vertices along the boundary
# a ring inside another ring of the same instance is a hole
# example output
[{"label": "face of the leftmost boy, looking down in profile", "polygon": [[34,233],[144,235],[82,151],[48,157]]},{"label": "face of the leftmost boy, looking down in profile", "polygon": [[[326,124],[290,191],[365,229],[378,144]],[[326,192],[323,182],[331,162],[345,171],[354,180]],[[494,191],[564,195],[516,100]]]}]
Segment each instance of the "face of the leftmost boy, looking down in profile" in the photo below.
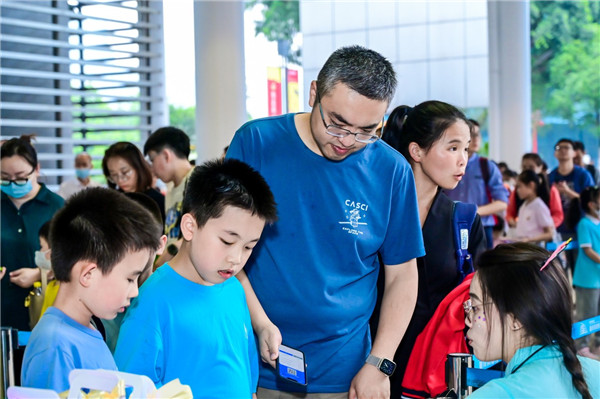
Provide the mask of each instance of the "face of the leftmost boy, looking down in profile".
[{"label": "face of the leftmost boy, looking down in profile", "polygon": [[125,311],[131,299],[138,295],[138,278],[146,268],[148,259],[154,252],[142,250],[128,252],[108,274],[96,268],[86,306],[91,313],[101,319],[111,320],[117,313]]}]

